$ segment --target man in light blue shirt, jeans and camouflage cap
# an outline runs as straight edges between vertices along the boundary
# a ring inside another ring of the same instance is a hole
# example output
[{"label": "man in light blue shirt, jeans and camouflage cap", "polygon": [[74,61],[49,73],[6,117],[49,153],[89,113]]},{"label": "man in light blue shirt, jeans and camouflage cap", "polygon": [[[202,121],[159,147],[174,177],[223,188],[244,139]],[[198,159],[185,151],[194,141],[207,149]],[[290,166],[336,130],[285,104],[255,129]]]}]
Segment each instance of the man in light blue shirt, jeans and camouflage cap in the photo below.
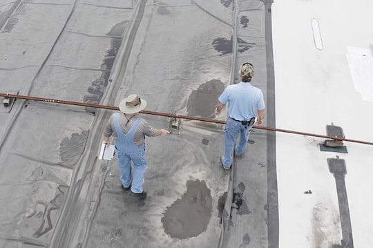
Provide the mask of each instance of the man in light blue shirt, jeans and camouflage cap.
[{"label": "man in light blue shirt, jeans and camouflage cap", "polygon": [[233,146],[240,133],[235,154],[242,155],[247,149],[247,141],[252,126],[261,125],[265,118],[265,101],[262,90],[250,84],[254,77],[254,66],[242,64],[240,68],[241,82],[225,88],[218,98],[215,115],[220,115],[222,108],[229,102],[228,117],[225,124],[224,154],[220,156],[220,164],[226,170],[231,169]]}]

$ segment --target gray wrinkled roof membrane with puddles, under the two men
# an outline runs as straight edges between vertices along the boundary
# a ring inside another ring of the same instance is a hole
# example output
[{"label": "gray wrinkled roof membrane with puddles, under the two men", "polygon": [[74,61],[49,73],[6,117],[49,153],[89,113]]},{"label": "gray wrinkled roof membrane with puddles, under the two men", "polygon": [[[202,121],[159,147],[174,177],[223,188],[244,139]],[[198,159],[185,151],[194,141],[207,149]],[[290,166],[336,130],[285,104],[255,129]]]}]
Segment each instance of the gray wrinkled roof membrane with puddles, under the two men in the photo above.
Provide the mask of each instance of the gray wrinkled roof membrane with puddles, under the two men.
[{"label": "gray wrinkled roof membrane with puddles, under the two men", "polygon": [[[149,111],[213,118],[218,95],[250,61],[275,126],[269,9],[15,1],[0,7],[0,92],[111,106],[137,93]],[[223,124],[183,120],[171,135],[147,137],[148,195],[139,199],[122,189],[117,157],[97,159],[114,112],[1,106],[0,247],[278,247],[273,133],[254,129],[231,171],[219,164]],[[167,117],[142,117],[169,127]]]}]

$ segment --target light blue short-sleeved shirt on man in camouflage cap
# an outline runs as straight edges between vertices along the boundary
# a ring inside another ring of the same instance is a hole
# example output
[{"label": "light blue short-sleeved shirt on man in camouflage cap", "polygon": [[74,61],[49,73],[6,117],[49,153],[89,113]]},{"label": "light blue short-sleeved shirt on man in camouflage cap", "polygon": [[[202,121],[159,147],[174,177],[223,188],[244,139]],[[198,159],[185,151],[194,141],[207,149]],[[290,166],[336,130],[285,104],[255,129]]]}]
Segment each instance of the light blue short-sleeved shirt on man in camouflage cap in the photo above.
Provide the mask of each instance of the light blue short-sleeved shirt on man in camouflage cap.
[{"label": "light blue short-sleeved shirt on man in camouflage cap", "polygon": [[224,105],[229,102],[228,115],[235,120],[250,120],[256,117],[256,109],[265,108],[262,90],[245,82],[227,86],[218,100]]}]

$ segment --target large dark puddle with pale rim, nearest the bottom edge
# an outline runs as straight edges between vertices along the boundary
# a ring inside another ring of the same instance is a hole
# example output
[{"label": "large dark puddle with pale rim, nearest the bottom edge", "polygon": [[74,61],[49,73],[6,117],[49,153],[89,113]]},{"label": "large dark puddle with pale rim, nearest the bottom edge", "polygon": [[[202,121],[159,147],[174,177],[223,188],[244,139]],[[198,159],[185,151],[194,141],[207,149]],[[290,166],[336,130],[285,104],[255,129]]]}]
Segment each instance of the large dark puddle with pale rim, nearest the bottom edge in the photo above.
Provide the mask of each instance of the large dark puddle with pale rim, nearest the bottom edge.
[{"label": "large dark puddle with pale rim, nearest the bottom edge", "polygon": [[206,182],[188,180],[187,192],[164,212],[164,231],[171,238],[196,237],[206,231],[211,218],[212,197]]}]

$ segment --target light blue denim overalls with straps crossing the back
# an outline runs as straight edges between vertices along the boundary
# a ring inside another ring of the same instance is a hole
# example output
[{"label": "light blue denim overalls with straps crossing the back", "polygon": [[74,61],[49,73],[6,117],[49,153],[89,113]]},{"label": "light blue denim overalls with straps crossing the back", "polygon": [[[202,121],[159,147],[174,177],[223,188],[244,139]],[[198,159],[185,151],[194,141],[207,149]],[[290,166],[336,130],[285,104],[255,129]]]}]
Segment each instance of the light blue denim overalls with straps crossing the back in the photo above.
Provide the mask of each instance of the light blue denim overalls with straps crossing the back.
[{"label": "light blue denim overalls with straps crossing the back", "polygon": [[131,185],[131,160],[133,166],[133,180],[131,191],[133,193],[142,193],[142,186],[144,184],[145,173],[148,169],[148,162],[146,161],[145,144],[137,146],[133,142],[133,136],[140,124],[141,119],[137,119],[135,124],[131,127],[128,133],[124,133],[119,126],[117,113],[114,117],[115,130],[117,131],[117,142],[115,143],[115,152],[119,159],[119,170],[122,174],[120,180],[124,187],[128,188]]}]

